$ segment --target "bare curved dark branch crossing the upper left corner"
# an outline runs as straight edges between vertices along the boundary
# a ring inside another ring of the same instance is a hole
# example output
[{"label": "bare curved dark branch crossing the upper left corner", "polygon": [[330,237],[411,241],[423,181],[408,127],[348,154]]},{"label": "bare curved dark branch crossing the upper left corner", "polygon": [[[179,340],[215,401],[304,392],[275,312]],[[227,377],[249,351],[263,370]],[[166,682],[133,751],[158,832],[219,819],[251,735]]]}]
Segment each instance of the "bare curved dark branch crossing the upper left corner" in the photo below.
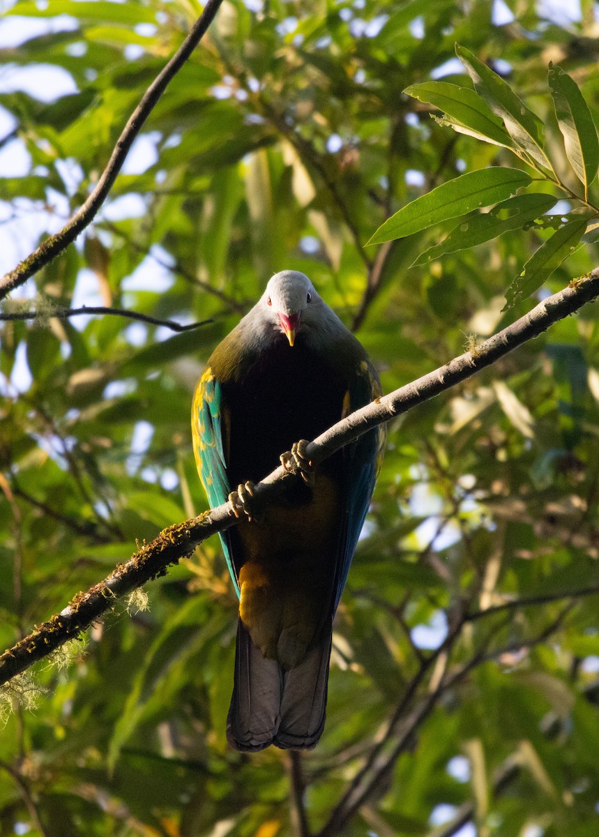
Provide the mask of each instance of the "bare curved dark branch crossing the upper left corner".
[{"label": "bare curved dark branch crossing the upper left corner", "polygon": [[55,256],[62,253],[94,218],[110,192],[110,188],[125,162],[125,157],[129,153],[129,149],[141,131],[146,119],[150,116],[158,100],[160,100],[161,95],[166,90],[166,86],[182,68],[193,50],[196,49],[197,44],[202,40],[203,35],[212,23],[222,2],[223,0],[207,0],[201,16],[193,24],[192,30],[187,35],[187,38],[183,41],[179,49],[177,49],[172,59],[156,76],[156,79],[142,96],[139,105],[137,105],[129,117],[129,121],[127,121],[119,139],[116,141],[110,161],[105,167],[104,172],[102,172],[94,190],[90,193],[90,197],[69,218],[69,221],[64,225],[63,229],[54,235],[50,235],[43,244],[40,244],[38,249],[33,250],[33,253],[28,255],[27,259],[23,259],[14,270],[11,270],[3,276],[0,280],[0,300],[3,300],[6,295],[15,288],[18,288],[19,285],[23,285],[29,276],[33,276],[40,268],[44,267],[44,264],[48,264]]}]

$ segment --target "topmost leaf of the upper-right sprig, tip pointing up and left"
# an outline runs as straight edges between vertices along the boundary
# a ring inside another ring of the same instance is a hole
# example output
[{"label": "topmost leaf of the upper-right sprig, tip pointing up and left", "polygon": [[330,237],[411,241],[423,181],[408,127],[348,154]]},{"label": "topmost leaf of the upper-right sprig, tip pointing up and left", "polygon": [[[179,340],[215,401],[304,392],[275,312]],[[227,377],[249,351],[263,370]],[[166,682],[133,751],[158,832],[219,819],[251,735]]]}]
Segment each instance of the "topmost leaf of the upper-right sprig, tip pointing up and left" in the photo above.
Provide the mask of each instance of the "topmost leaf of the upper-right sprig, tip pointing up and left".
[{"label": "topmost leaf of the upper-right sprig, tip pointing up and left", "polygon": [[497,73],[459,45],[455,48],[458,58],[468,71],[474,87],[488,103],[494,114],[500,116],[516,145],[526,151],[541,166],[550,168],[545,155],[543,123],[517,96],[514,90]]}]

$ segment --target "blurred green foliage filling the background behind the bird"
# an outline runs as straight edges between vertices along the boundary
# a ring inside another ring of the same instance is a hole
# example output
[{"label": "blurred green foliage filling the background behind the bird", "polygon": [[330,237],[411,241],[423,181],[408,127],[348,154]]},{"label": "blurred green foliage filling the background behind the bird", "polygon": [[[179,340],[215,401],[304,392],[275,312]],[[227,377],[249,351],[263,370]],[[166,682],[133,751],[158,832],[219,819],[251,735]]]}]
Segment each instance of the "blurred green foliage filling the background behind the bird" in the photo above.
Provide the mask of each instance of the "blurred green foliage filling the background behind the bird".
[{"label": "blurred green foliage filling the background behind the bird", "polygon": [[[530,307],[501,311],[548,237],[539,225],[508,225],[494,241],[412,268],[455,220],[366,242],[459,174],[519,165],[508,148],[456,134],[402,93],[439,78],[471,88],[456,42],[509,80],[576,189],[547,68],[570,74],[597,121],[597,23],[590,0],[580,20],[557,4],[551,18],[550,8],[226,0],[93,226],[7,300],[7,310],[104,304],[211,323],[173,336],[116,316],[3,322],[5,646],[110,573],[136,541],[205,508],[192,388],[275,270],[310,275],[356,327],[387,391]],[[55,23],[2,50],[13,78],[52,66],[76,92],[0,94],[13,119],[2,144],[18,143],[29,161],[22,177],[0,182],[5,230],[26,238],[33,216],[58,229],[79,207],[200,11],[196,0],[9,9],[7,20]],[[591,183],[595,205],[598,195]],[[594,244],[579,247],[540,293],[596,259]],[[313,832],[329,822],[326,833],[350,837],[594,837],[597,599],[568,593],[599,584],[598,435],[592,308],[392,424],[336,621],[325,735],[301,758]],[[84,644],[3,692],[0,833],[305,837],[289,754],[226,747],[236,600],[217,540],[146,593],[149,609],[117,604]],[[494,607],[462,624],[464,613]],[[387,768],[366,767],[370,790],[340,826],[331,814],[376,742]]]}]

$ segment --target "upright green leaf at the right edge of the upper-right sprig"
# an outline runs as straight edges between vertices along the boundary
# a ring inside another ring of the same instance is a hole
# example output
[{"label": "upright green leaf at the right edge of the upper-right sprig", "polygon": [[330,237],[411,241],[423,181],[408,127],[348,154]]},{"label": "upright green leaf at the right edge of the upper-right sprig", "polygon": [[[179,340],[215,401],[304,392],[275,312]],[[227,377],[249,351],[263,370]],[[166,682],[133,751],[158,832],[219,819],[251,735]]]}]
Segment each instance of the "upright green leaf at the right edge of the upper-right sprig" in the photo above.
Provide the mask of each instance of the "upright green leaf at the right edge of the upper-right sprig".
[{"label": "upright green leaf at the right edge of the upper-right sprig", "polygon": [[599,142],[591,111],[578,90],[576,81],[561,67],[549,65],[547,75],[555,105],[555,116],[564,136],[566,157],[585,187],[595,180],[599,167]]}]

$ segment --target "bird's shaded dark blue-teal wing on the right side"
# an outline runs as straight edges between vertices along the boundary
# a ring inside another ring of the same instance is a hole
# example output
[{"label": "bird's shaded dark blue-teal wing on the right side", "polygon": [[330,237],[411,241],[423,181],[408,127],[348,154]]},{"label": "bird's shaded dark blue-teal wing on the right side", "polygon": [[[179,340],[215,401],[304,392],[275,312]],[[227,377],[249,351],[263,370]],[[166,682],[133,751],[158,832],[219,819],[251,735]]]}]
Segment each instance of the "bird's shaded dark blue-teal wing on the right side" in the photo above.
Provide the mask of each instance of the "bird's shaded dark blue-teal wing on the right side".
[{"label": "bird's shaded dark blue-teal wing on the right side", "polygon": [[[346,393],[344,415],[352,413],[380,396],[381,382],[375,368],[369,362],[362,361],[356,377],[352,380]],[[344,519],[340,535],[335,609],[346,585],[347,573],[349,573],[351,559],[356,552],[357,542],[366,519],[366,512],[368,506],[370,506],[376,476],[381,470],[385,439],[385,425],[380,424],[377,428],[370,430],[356,442],[346,445],[343,449]]]}]

